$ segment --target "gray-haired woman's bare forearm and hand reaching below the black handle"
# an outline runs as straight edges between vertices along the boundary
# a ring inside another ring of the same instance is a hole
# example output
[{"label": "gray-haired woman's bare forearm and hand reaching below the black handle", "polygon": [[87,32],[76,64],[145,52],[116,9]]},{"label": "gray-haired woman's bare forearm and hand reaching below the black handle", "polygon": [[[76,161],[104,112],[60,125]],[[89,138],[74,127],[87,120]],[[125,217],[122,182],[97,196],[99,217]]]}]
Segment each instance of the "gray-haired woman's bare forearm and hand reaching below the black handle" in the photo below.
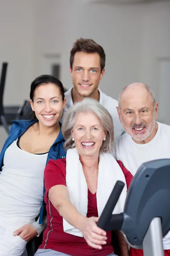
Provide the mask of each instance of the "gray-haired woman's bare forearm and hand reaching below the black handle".
[{"label": "gray-haired woman's bare forearm and hand reaching below the black handle", "polygon": [[68,194],[68,189],[64,185],[56,185],[51,187],[48,191],[48,198],[53,206],[59,212],[62,218],[71,224],[73,227],[80,230],[84,239],[89,246],[102,249],[103,244],[106,244],[106,232],[97,227],[96,222],[98,218],[87,218],[81,215],[76,207],[71,203]]}]

